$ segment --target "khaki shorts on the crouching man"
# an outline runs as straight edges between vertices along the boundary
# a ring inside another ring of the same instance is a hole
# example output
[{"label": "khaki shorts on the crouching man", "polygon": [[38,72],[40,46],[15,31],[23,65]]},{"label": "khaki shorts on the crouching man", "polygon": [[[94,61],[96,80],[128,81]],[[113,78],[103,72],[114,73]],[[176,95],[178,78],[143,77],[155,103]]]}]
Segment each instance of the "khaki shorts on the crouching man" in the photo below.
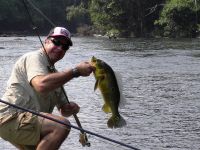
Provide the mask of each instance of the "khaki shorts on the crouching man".
[{"label": "khaki shorts on the crouching man", "polygon": [[19,113],[0,125],[0,136],[19,149],[35,149],[40,141],[42,120],[29,112]]}]

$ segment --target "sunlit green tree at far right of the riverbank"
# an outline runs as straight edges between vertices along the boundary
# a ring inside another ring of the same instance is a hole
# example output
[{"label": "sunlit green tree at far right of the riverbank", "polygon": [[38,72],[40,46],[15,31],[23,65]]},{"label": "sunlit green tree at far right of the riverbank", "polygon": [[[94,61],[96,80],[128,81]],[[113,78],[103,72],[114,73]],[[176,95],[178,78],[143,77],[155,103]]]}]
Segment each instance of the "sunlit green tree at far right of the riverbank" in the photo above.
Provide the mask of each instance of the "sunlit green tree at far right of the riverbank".
[{"label": "sunlit green tree at far right of the riverbank", "polygon": [[198,30],[199,6],[194,0],[168,0],[155,22],[164,31],[164,36],[194,37]]}]

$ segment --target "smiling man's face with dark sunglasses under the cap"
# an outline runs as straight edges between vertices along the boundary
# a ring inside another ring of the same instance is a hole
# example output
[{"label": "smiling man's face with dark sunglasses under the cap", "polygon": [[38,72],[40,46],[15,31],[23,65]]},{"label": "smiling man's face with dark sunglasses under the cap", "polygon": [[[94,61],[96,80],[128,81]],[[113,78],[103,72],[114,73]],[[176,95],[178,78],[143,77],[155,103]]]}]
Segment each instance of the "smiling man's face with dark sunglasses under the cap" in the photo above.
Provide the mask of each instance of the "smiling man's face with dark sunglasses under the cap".
[{"label": "smiling man's face with dark sunglasses under the cap", "polygon": [[52,63],[56,63],[58,60],[62,59],[65,56],[66,51],[69,49],[68,40],[62,36],[48,38],[45,46]]}]

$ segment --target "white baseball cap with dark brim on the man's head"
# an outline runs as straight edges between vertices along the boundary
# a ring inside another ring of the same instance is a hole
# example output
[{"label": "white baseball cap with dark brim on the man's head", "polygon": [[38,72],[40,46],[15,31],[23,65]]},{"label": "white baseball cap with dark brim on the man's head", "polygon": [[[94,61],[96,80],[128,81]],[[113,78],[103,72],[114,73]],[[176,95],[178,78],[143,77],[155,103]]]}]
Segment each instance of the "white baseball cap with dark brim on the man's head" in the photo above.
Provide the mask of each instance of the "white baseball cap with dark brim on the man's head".
[{"label": "white baseball cap with dark brim on the man's head", "polygon": [[71,33],[69,32],[69,30],[67,30],[64,27],[55,27],[49,32],[47,37],[58,37],[58,36],[66,37],[67,40],[69,41],[69,45],[72,46]]}]

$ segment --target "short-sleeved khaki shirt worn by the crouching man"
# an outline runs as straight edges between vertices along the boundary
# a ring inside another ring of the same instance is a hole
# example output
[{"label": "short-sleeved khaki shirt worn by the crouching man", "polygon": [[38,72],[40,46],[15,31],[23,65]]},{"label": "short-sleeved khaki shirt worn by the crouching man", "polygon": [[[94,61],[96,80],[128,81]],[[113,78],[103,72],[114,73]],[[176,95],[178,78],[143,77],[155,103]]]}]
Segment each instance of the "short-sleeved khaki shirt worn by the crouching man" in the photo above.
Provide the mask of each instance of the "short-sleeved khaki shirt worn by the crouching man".
[{"label": "short-sleeved khaki shirt worn by the crouching man", "polygon": [[[31,86],[31,80],[38,75],[49,73],[48,61],[42,50],[29,52],[18,59],[7,83],[2,100],[23,108],[51,113],[55,106],[67,102],[61,88],[47,94],[40,94]],[[21,110],[0,103],[0,118],[10,116]]]}]

